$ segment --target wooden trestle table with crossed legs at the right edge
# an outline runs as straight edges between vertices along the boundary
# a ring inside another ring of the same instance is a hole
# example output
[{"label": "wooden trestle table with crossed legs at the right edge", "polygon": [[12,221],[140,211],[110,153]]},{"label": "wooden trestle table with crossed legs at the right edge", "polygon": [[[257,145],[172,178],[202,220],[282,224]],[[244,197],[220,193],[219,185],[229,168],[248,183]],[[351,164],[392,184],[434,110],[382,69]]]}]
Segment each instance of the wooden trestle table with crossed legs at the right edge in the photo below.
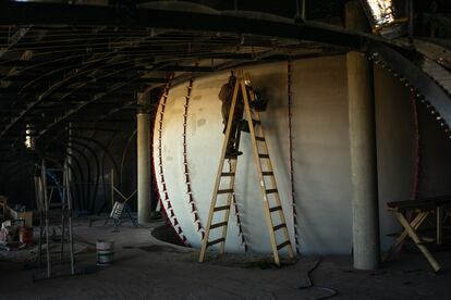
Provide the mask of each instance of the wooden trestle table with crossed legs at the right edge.
[{"label": "wooden trestle table with crossed legs at the right edge", "polygon": [[[400,222],[404,230],[383,255],[382,261],[387,261],[391,254],[393,254],[401,247],[401,245],[404,243],[405,239],[410,237],[430,263],[434,271],[440,271],[440,264],[425,246],[425,240],[418,236],[417,229],[429,214],[436,214],[436,242],[437,245],[441,245],[443,242],[444,212],[449,209],[449,207],[451,207],[451,196],[387,203],[387,210],[394,212],[397,220]],[[409,222],[405,216],[409,212],[414,215],[411,222]]]}]

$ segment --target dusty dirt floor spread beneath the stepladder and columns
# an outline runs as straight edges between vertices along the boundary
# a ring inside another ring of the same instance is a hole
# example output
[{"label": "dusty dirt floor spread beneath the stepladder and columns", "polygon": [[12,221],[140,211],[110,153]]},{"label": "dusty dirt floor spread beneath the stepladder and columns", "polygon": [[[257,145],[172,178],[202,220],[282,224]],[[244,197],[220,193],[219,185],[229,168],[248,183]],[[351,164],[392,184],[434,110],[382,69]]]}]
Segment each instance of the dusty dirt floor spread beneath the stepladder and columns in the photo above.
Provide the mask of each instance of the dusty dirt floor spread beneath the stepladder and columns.
[{"label": "dusty dirt floor spread beneath the stepladder and columns", "polygon": [[[0,299],[451,299],[450,252],[436,253],[440,274],[419,253],[397,255],[376,272],[353,270],[349,257],[302,258],[277,268],[270,258],[218,260],[210,253],[199,264],[196,250],[151,236],[162,223],[141,228],[125,223],[120,233],[102,221],[92,227],[85,221],[75,224],[82,274],[34,282],[33,275],[41,273],[23,262],[31,251],[1,253]],[[96,266],[98,239],[114,240],[112,266]]]}]

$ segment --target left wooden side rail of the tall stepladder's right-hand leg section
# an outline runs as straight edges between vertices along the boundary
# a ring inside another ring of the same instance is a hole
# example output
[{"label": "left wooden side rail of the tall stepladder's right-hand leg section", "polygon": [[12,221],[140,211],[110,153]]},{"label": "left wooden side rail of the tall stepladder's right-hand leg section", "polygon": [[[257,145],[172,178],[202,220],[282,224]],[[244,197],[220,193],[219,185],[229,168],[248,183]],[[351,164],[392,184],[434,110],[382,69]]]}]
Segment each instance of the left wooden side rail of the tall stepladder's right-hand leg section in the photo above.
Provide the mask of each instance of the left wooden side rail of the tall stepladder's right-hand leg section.
[{"label": "left wooden side rail of the tall stepladder's right-hand leg section", "polygon": [[[243,74],[241,74],[241,76],[243,77]],[[260,163],[260,158],[259,158],[259,154],[258,154],[257,140],[255,139],[255,130],[254,130],[252,112],[251,112],[251,107],[249,107],[248,97],[247,97],[246,85],[245,85],[244,80],[240,80],[240,84],[241,84],[242,93],[243,93],[244,110],[245,110],[245,113],[246,113],[246,118],[247,118],[247,123],[248,123],[248,127],[249,127],[249,135],[251,135],[253,151],[254,151],[254,161],[255,161],[257,172],[258,172],[258,179],[259,179],[259,186],[260,186],[260,190],[261,190],[261,197],[264,199],[265,216],[266,216],[266,223],[267,223],[268,230],[269,230],[269,238],[270,238],[270,241],[271,241],[272,253],[273,253],[273,257],[275,257],[276,264],[280,265],[279,251],[277,249],[276,235],[275,235],[275,232],[272,229],[272,227],[273,227],[272,217],[271,217],[271,214],[269,212],[268,196],[266,193],[265,178],[264,178],[263,173],[261,173],[263,172],[261,171],[261,163]]]}]

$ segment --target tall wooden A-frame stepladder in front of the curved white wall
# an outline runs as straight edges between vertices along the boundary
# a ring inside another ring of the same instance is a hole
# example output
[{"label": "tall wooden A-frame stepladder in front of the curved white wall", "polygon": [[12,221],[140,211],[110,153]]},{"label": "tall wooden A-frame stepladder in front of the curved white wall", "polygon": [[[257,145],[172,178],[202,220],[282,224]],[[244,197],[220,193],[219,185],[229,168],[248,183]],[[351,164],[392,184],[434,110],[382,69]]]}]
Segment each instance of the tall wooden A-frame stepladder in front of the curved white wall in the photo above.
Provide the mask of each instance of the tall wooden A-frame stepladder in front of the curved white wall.
[{"label": "tall wooden A-frame stepladder in front of the curved white wall", "polygon": [[[240,101],[242,101],[242,103]],[[223,254],[224,252],[229,216],[233,203],[232,200],[234,195],[235,172],[237,163],[237,155],[227,155],[227,147],[231,136],[232,122],[242,122],[241,116],[239,118],[234,117],[234,114],[236,113],[235,107],[239,102],[244,107],[244,115],[248,125],[248,132],[254,152],[254,162],[258,173],[259,188],[261,191],[265,210],[265,218],[269,232],[275,263],[277,265],[280,265],[279,251],[284,247],[288,247],[288,254],[290,259],[294,257],[285,217],[283,215],[282,204],[280,202],[271,160],[269,158],[268,146],[266,143],[264,129],[261,127],[260,116],[258,111],[253,109],[253,104],[256,103],[254,101],[256,101],[256,95],[252,89],[249,75],[240,71],[237,73],[233,89],[224,142],[222,146],[218,174],[211,197],[211,205],[206,232],[202,242],[199,262],[203,262],[205,260],[207,248],[216,243],[220,243],[220,254]],[[240,126],[240,124],[235,125]],[[241,128],[241,126],[239,128]],[[237,137],[236,150],[239,148],[239,140],[240,137]],[[224,170],[226,160],[229,160],[229,170]],[[215,224],[212,224],[214,221],[216,222]],[[209,240],[210,234],[215,229],[220,230],[220,237],[214,240]],[[280,236],[276,234],[278,230],[282,230],[281,236],[283,239],[281,241],[278,241],[278,236]]]}]

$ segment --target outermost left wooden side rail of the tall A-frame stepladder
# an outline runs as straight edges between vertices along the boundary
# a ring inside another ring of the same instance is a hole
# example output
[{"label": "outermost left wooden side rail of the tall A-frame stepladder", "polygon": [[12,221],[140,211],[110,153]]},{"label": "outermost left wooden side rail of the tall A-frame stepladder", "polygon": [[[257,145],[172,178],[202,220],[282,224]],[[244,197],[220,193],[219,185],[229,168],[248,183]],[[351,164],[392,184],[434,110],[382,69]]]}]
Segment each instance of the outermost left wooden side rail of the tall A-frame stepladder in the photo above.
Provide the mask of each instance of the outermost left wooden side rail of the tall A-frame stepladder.
[{"label": "outermost left wooden side rail of the tall A-frame stepladder", "polygon": [[[211,226],[211,222],[212,222],[212,217],[214,217],[214,213],[215,213],[215,207],[216,207],[216,202],[217,202],[217,198],[218,198],[219,186],[221,184],[221,173],[222,173],[223,166],[224,166],[226,150],[227,150],[227,146],[228,146],[229,138],[230,138],[230,133],[231,133],[231,129],[232,129],[232,122],[233,122],[233,115],[234,115],[234,112],[235,112],[235,104],[236,104],[236,98],[237,98],[239,89],[240,89],[240,80],[239,80],[239,78],[236,78],[235,87],[233,89],[232,104],[230,107],[230,112],[231,113],[229,113],[229,118],[228,118],[226,135],[224,135],[224,141],[222,143],[221,157],[220,157],[219,166],[218,166],[218,173],[216,175],[215,188],[214,188],[214,192],[212,192],[212,197],[211,197],[210,211],[208,213],[207,227],[206,227],[205,236],[204,236],[204,239],[203,239],[203,242],[202,242],[199,262],[204,261],[205,252],[206,252],[207,246],[208,246],[208,238],[209,238],[209,235],[210,235],[210,226]],[[223,242],[226,243],[226,241],[223,241]]]}]

